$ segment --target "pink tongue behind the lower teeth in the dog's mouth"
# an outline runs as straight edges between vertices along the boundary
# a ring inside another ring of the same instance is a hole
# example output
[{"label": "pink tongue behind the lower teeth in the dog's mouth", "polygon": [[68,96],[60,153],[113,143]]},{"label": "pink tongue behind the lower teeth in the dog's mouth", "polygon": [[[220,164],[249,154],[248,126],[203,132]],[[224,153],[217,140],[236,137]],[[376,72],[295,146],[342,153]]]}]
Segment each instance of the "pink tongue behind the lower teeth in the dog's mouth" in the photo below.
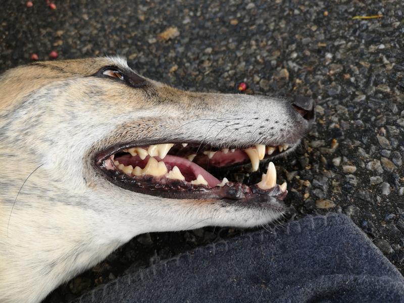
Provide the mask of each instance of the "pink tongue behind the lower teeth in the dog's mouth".
[{"label": "pink tongue behind the lower teeth in the dog's mouth", "polygon": [[[208,171],[206,171],[205,169],[201,168],[199,165],[197,165],[185,158],[181,158],[181,157],[177,157],[177,156],[173,156],[173,155],[167,155],[166,157],[164,157],[164,159],[160,159],[158,157],[156,157],[156,159],[158,161],[164,161],[164,163],[166,164],[167,169],[169,171],[174,166],[177,166],[181,172],[188,172],[188,174],[189,174],[189,171],[192,171],[192,173],[194,175],[193,180],[195,180],[198,175],[203,176],[204,179],[208,182],[210,187],[214,187],[220,183],[220,181],[218,179],[216,179],[213,175],[211,175]],[[185,176],[185,178],[188,179],[187,176]]]}]

